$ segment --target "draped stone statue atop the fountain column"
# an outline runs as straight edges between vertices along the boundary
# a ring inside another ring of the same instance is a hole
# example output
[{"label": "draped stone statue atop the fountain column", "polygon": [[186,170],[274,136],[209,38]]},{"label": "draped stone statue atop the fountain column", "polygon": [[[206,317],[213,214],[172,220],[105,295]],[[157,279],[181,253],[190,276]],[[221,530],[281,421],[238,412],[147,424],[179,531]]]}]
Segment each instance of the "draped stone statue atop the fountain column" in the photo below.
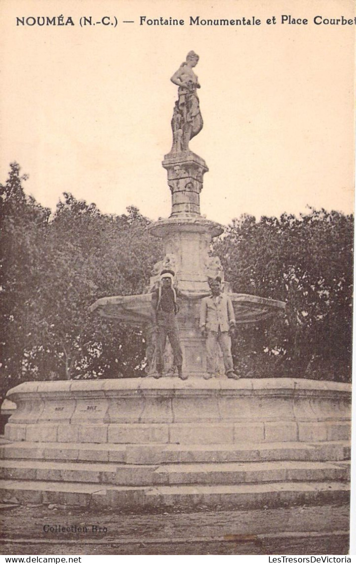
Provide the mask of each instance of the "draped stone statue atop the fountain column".
[{"label": "draped stone statue atop the fountain column", "polygon": [[201,131],[203,118],[199,108],[199,98],[196,89],[200,88],[198,78],[193,68],[199,61],[199,56],[194,51],[189,51],[186,61],[181,64],[177,72],[170,79],[178,86],[178,100],[175,102],[172,131],[172,153],[189,151],[190,140]]}]

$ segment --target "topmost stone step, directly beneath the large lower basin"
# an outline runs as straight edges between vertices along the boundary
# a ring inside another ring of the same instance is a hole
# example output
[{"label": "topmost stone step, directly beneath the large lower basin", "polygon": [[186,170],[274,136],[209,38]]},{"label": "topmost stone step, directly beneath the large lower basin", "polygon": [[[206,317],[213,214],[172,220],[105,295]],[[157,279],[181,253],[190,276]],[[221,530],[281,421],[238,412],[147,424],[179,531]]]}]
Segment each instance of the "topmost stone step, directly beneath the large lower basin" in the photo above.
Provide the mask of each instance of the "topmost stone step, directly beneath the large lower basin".
[{"label": "topmost stone step, directly beneath the large lower basin", "polygon": [[0,446],[0,458],[126,464],[175,462],[328,461],[350,457],[348,441],[241,444],[96,444],[19,441]]}]

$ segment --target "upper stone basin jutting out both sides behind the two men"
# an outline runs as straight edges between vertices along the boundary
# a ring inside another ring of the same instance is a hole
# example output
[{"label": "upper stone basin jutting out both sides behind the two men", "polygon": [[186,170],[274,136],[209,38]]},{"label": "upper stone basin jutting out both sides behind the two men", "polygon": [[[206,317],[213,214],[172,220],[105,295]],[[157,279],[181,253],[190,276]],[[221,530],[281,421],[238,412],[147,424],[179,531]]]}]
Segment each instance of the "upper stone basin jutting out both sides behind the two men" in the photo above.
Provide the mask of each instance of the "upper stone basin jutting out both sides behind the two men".
[{"label": "upper stone basin jutting out both sides behind the two men", "polygon": [[[285,302],[276,299],[249,296],[249,294],[229,293],[228,295],[234,306],[238,324],[255,323],[285,309]],[[189,298],[182,299],[184,302],[195,302],[194,317],[197,318],[200,300],[196,299],[194,292]],[[105,318],[120,319],[131,325],[145,324],[151,319],[151,294],[100,298],[93,303],[90,311]]]}]

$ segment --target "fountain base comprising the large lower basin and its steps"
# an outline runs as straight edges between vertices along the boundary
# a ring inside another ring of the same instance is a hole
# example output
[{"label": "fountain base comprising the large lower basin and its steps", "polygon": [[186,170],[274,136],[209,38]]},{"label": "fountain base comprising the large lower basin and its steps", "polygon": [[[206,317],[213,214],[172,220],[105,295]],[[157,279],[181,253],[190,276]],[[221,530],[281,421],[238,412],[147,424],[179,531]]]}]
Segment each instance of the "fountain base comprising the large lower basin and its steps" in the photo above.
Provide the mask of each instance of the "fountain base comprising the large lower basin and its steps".
[{"label": "fountain base comprising the large lower basin and its steps", "polygon": [[292,378],[26,382],[4,502],[259,507],[349,497],[348,384]]}]

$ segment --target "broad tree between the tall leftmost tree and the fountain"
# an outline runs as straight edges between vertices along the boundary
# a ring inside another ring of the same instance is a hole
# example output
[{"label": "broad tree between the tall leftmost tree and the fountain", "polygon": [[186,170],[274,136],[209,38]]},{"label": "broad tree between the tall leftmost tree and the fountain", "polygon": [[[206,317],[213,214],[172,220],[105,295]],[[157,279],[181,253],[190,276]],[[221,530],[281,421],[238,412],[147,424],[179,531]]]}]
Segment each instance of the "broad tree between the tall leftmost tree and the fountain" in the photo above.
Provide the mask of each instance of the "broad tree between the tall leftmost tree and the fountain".
[{"label": "broad tree between the tall leftmost tree and the fountain", "polygon": [[[89,314],[99,297],[142,292],[159,256],[159,244],[148,235],[150,222],[136,208],[128,211],[103,215],[94,204],[65,193],[49,226],[42,342],[64,364],[67,378],[128,376],[143,368],[142,332]],[[48,292],[54,292],[55,303]]]}]

